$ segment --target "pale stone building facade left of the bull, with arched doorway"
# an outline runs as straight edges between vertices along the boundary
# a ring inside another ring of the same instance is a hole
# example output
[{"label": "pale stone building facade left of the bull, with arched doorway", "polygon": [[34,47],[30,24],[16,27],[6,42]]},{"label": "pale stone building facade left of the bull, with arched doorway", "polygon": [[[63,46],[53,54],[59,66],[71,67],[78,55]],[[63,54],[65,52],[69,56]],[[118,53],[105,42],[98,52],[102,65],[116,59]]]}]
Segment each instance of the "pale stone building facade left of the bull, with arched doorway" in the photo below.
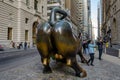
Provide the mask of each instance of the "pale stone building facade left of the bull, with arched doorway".
[{"label": "pale stone building facade left of the bull, with arched doorway", "polygon": [[[42,0],[41,0],[42,1]],[[27,42],[35,44],[36,27],[42,13],[39,0],[1,0],[0,1],[0,44],[11,47],[11,41],[18,46]]]}]

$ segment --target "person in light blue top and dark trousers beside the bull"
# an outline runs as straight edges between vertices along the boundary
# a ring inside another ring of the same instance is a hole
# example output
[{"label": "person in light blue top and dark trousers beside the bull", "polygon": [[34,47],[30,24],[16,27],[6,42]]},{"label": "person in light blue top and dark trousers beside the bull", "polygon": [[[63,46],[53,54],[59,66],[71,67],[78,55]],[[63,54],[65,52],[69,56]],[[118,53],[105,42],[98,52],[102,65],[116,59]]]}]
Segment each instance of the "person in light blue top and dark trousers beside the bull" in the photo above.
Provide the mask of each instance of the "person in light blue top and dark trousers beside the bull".
[{"label": "person in light blue top and dark trousers beside the bull", "polygon": [[93,41],[89,40],[88,41],[88,50],[89,50],[89,55],[90,55],[90,59],[88,60],[88,64],[90,63],[91,66],[94,66],[93,62],[94,62],[94,51],[95,48],[95,42],[93,43]]}]

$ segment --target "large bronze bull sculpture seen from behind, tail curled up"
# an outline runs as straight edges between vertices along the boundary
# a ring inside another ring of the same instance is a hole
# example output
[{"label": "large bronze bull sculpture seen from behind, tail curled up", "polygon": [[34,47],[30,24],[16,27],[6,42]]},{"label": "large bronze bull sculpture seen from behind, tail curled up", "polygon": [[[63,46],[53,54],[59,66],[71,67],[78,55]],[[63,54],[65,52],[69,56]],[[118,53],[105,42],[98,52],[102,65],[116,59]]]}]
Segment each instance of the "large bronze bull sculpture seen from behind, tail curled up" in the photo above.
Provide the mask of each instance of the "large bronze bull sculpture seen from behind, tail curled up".
[{"label": "large bronze bull sculpture seen from behind, tail curled up", "polygon": [[[56,20],[56,13],[62,14],[58,21]],[[87,63],[87,60],[81,53],[79,38],[72,33],[72,25],[69,21],[64,20],[66,16],[65,11],[54,8],[51,11],[50,21],[38,25],[37,49],[44,65],[43,73],[52,72],[49,66],[52,57],[56,61],[61,61],[73,68],[76,76],[85,77],[87,73],[78,65],[76,54],[79,54],[82,62]]]}]

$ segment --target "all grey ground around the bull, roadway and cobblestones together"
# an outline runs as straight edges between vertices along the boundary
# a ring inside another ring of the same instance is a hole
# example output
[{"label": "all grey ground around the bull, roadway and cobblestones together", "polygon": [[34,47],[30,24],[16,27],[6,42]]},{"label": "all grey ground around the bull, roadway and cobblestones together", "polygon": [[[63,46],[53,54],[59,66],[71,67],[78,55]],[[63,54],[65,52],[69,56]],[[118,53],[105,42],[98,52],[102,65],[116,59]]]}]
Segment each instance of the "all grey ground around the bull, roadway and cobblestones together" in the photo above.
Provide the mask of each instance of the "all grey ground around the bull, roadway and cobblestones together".
[{"label": "all grey ground around the bull, roadway and cobblestones together", "polygon": [[[0,80],[120,80],[120,64],[117,63],[120,59],[115,57],[104,55],[102,61],[96,57],[95,66],[87,66],[80,63],[77,56],[79,64],[88,74],[86,78],[79,78],[74,76],[71,68],[55,61],[50,63],[53,73],[43,74],[38,52],[29,50],[28,53],[30,54],[0,62]],[[97,54],[96,52],[96,56]]]}]

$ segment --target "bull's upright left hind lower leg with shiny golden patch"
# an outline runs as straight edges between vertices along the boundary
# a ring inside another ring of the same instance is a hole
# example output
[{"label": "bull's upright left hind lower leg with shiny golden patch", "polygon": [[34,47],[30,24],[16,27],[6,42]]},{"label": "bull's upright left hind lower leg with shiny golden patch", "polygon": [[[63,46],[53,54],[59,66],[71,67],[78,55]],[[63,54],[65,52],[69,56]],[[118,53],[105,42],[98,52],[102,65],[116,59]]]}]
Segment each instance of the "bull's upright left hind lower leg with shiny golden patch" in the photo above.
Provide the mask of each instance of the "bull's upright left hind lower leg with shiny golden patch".
[{"label": "bull's upright left hind lower leg with shiny golden patch", "polygon": [[43,73],[52,73],[52,70],[49,66],[50,58],[41,58],[41,61],[44,66]]}]

